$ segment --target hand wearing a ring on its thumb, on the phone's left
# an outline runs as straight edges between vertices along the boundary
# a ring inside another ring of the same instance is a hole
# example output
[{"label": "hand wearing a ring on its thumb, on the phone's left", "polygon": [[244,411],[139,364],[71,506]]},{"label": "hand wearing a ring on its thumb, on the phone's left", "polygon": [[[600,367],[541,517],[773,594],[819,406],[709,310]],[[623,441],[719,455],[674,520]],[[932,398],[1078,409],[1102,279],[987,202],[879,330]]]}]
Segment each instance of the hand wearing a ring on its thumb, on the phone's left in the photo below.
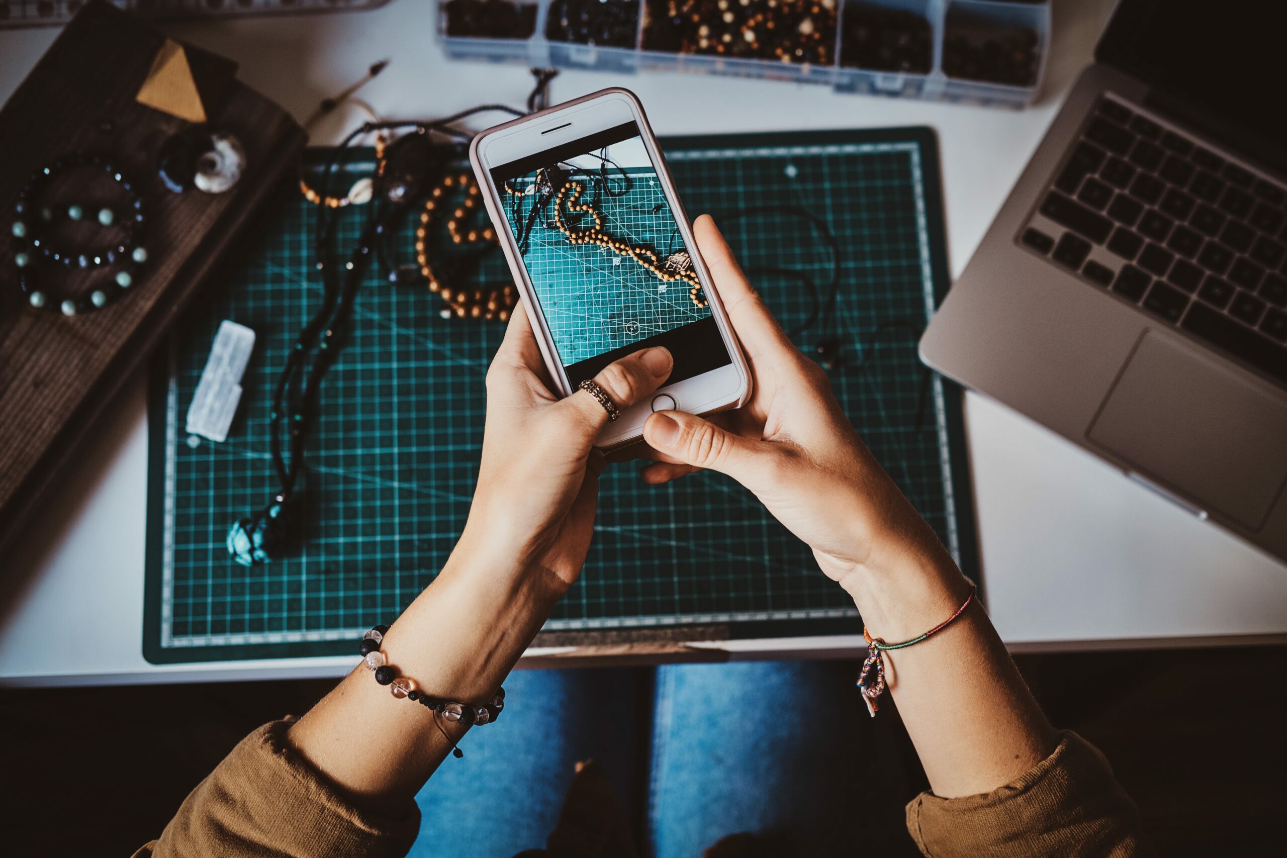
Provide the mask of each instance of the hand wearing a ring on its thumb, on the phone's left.
[{"label": "hand wearing a ring on its thumb, on the phone's left", "polygon": [[[665,349],[605,367],[595,381],[624,410],[662,386]],[[580,574],[595,524],[604,455],[595,439],[607,412],[591,394],[559,399],[548,383],[526,313],[510,319],[486,374],[483,461],[457,551],[471,565],[542,575],[561,596]]]}]

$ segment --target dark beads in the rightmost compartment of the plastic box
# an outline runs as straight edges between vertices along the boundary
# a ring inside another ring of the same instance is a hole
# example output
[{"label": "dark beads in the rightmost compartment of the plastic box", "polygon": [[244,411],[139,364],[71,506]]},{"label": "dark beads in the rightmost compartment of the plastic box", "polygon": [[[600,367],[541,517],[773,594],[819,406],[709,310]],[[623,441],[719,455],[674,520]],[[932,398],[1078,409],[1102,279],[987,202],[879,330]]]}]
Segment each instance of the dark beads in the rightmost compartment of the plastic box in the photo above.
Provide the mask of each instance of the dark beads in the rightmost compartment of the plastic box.
[{"label": "dark beads in the rightmost compartment of the plastic box", "polygon": [[1024,12],[1026,4],[956,1],[947,6],[943,73],[986,84],[1035,86],[1041,39],[1026,22]]}]

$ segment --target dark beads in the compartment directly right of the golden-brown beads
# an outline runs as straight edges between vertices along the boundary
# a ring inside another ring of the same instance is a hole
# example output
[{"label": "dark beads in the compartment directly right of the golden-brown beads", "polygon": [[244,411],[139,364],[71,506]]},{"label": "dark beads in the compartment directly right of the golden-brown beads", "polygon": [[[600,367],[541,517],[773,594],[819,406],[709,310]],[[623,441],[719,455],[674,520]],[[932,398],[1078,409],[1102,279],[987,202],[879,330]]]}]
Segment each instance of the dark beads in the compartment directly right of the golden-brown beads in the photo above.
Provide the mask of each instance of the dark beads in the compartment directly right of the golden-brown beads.
[{"label": "dark beads in the compartment directly right of the golden-brown beads", "polygon": [[928,75],[934,63],[934,30],[921,12],[870,0],[847,3],[840,64],[874,72]]}]

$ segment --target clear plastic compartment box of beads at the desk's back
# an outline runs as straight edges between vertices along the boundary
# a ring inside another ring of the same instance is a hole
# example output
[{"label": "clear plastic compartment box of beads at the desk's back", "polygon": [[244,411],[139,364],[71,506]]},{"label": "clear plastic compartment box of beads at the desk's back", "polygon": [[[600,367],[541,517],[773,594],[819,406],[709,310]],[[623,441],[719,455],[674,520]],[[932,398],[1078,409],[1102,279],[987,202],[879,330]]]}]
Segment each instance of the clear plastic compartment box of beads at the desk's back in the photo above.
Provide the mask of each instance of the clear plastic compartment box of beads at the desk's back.
[{"label": "clear plastic compartment box of beads at the desk's back", "polygon": [[[649,10],[665,0],[606,0],[640,5],[629,48],[550,39],[551,4],[557,0],[512,4],[535,6],[535,26],[526,37],[452,35],[449,1],[439,4],[439,39],[454,59],[618,73],[736,75],[824,84],[840,93],[1010,108],[1036,100],[1050,46],[1049,0],[834,0],[835,46],[828,64],[650,50]],[[766,3],[749,0],[752,6]]]}]

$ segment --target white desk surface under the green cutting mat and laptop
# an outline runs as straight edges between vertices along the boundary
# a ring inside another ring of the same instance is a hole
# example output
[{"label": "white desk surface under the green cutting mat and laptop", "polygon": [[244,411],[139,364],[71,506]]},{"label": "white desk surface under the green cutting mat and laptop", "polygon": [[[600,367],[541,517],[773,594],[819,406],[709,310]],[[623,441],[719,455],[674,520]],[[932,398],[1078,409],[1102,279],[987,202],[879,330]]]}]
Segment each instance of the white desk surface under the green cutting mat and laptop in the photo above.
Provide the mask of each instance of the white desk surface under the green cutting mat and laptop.
[{"label": "white desk surface under the green cutting mat and laptop", "polygon": [[[681,73],[564,72],[565,100],[609,85],[640,94],[659,134],[929,125],[942,149],[951,270],[960,273],[1073,77],[1111,0],[1057,3],[1046,95],[1023,112],[835,95],[822,86]],[[167,24],[241,63],[251,86],[305,118],[367,66],[362,95],[389,117],[436,117],[484,102],[520,105],[519,66],[450,63],[431,0],[375,12]],[[0,100],[53,41],[0,32]],[[340,111],[332,143],[363,120]],[[497,117],[499,120],[501,117]],[[353,659],[201,665],[142,655],[147,443],[143,378],[121,396],[75,476],[0,575],[0,682],[73,684],[336,675]],[[1127,481],[979,396],[967,400],[987,607],[1015,650],[1252,642],[1287,637],[1287,567]],[[806,643],[806,642],[799,642]],[[819,642],[815,642],[819,643]],[[848,642],[853,646],[855,642]]]}]

